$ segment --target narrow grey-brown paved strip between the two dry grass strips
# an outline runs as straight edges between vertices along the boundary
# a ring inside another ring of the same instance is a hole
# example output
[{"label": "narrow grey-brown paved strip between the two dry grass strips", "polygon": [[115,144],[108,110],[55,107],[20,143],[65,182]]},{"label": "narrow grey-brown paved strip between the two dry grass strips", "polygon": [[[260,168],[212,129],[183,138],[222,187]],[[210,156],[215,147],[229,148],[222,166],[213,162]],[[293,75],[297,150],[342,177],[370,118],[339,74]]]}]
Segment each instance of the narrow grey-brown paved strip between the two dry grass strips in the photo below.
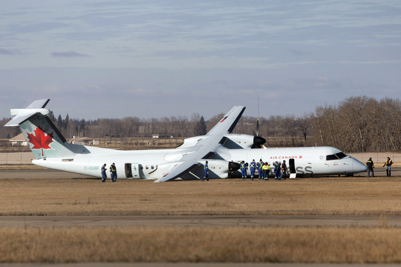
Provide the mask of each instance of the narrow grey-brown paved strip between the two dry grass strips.
[{"label": "narrow grey-brown paved strip between the two dry grass strips", "polygon": [[116,227],[116,226],[391,226],[401,216],[0,216],[0,227]]}]

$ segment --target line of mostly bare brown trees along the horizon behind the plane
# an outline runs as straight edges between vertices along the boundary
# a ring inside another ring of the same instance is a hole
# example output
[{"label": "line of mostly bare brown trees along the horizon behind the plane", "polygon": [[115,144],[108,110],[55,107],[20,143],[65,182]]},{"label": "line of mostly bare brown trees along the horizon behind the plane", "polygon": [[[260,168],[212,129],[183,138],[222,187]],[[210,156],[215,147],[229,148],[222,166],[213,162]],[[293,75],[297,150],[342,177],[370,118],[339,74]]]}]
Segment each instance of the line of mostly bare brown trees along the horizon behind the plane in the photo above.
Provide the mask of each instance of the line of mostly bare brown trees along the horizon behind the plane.
[{"label": "line of mostly bare brown trees along the horizon behind the plane", "polygon": [[[75,136],[91,138],[143,137],[186,138],[206,134],[221,120],[223,113],[205,121],[198,113],[187,117],[140,119],[74,119],[52,113],[49,118],[70,139]],[[0,125],[10,118],[3,118]],[[253,134],[256,117],[243,116],[234,133]],[[398,99],[361,96],[350,97],[338,105],[317,106],[314,112],[296,117],[274,115],[260,117],[259,134],[267,139],[265,146],[334,146],[344,152],[400,151],[401,102]],[[0,138],[10,138],[21,131],[18,127],[0,127]]]}]

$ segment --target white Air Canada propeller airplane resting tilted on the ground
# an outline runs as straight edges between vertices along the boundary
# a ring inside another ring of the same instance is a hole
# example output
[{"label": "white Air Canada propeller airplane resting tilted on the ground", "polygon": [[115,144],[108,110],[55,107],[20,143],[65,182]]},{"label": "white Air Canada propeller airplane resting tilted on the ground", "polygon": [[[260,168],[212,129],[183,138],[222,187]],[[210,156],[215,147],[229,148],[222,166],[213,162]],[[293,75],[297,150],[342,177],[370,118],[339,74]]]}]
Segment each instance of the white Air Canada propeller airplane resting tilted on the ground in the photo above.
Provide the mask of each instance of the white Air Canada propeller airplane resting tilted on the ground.
[{"label": "white Air Canada propeller airplane resting tilted on the ground", "polygon": [[202,179],[206,161],[210,178],[241,177],[240,162],[252,159],[263,159],[269,165],[287,160],[288,174],[296,176],[367,171],[363,163],[334,147],[260,148],[266,140],[259,135],[259,121],[253,136],[233,134],[244,106],[233,107],[206,135],[186,138],[175,149],[122,151],[71,144],[47,116],[49,101],[36,100],[25,109],[11,109],[16,116],[5,126],[20,126],[35,156],[32,163],[50,169],[101,178],[101,165],[114,162],[119,178],[155,182]]}]

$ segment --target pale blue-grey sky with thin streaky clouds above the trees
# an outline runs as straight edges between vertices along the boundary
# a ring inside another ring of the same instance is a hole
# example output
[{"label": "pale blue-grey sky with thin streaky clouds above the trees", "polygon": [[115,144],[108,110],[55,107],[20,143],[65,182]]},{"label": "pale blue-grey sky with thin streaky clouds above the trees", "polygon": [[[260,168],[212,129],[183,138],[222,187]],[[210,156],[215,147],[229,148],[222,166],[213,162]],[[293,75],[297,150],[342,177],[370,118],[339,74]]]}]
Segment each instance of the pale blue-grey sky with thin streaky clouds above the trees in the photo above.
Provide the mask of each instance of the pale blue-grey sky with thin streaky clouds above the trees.
[{"label": "pale blue-grey sky with thin streaky clouds above the trees", "polygon": [[0,117],[302,116],[400,71],[399,0],[0,0]]}]

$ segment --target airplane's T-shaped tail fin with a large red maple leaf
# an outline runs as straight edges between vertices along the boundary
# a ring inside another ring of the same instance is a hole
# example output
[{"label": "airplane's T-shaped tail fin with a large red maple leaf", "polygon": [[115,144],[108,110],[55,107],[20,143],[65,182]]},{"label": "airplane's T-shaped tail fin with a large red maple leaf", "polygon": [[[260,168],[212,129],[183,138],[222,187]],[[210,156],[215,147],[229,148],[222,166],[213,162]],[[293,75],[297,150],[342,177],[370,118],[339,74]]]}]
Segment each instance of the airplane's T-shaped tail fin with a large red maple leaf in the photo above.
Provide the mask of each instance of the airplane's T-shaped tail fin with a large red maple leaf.
[{"label": "airplane's T-shaped tail fin with a large red maple leaf", "polygon": [[32,102],[25,109],[12,109],[16,115],[5,126],[20,126],[35,159],[61,158],[75,155],[71,145],[49,119],[45,106],[50,99]]}]

